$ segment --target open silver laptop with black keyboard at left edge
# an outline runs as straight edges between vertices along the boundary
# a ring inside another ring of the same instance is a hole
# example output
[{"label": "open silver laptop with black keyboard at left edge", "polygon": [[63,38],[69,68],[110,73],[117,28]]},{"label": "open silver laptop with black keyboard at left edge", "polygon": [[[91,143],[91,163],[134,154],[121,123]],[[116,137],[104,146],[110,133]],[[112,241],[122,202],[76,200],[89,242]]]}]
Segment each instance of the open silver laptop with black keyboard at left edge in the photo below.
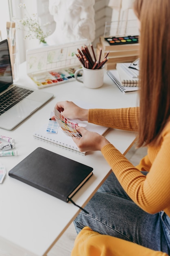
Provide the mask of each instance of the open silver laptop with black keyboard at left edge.
[{"label": "open silver laptop with black keyboard at left edge", "polygon": [[53,97],[13,84],[8,40],[0,41],[0,128],[12,130]]}]

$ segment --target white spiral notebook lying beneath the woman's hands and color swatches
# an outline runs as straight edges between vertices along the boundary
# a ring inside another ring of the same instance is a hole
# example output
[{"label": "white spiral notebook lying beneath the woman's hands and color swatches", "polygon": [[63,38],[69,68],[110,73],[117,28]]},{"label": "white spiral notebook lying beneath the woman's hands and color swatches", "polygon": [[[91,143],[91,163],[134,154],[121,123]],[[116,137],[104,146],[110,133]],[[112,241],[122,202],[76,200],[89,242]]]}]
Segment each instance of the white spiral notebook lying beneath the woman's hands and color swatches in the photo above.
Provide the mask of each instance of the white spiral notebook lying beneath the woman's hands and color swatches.
[{"label": "white spiral notebook lying beneath the woman's hands and color swatches", "polygon": [[[105,126],[99,126],[96,124],[90,124],[87,121],[81,121],[86,126],[85,128],[89,131],[98,132],[100,135],[104,135],[104,133],[109,129]],[[74,143],[72,137],[65,135],[61,127],[59,127],[57,133],[47,132],[47,124],[41,127],[37,132],[33,134],[33,137],[36,139],[41,139],[50,144],[54,144],[56,146],[72,150],[81,155],[85,155],[87,152],[80,152],[76,144]]]}]

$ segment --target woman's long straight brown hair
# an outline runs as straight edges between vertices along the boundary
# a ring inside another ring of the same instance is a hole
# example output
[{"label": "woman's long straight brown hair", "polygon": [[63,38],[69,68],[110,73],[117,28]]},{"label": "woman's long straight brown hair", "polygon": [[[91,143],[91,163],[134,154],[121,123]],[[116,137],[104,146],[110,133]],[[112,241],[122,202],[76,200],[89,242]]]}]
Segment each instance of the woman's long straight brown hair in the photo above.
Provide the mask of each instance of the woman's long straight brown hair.
[{"label": "woman's long straight brown hair", "polygon": [[170,119],[170,0],[135,0],[140,21],[138,146],[155,144]]}]

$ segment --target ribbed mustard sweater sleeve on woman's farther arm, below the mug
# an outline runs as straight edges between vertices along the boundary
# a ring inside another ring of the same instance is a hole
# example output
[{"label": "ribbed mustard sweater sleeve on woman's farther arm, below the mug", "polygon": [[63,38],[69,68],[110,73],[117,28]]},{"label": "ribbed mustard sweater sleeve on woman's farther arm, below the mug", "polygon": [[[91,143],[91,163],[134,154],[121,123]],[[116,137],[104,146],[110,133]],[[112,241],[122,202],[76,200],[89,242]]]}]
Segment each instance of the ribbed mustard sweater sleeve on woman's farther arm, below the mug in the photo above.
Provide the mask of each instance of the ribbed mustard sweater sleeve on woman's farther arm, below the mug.
[{"label": "ribbed mustard sweater sleeve on woman's farther arm, below the mug", "polygon": [[121,130],[137,131],[139,107],[89,109],[88,122]]}]

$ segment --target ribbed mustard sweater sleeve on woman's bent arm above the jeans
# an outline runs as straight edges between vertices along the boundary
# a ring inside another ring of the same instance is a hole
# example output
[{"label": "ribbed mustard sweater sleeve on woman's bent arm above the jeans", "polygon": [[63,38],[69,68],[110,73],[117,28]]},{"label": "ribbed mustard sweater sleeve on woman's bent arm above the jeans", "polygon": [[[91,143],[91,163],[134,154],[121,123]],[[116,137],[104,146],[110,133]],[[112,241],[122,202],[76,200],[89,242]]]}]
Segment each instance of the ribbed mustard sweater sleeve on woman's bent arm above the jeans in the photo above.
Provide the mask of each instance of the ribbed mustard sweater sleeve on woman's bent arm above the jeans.
[{"label": "ribbed mustard sweater sleeve on woman's bent arm above the jeans", "polygon": [[170,215],[170,124],[162,132],[161,145],[148,148],[152,166],[146,176],[112,144],[105,145],[101,152],[126,193],[139,207],[151,214],[164,210]]}]

